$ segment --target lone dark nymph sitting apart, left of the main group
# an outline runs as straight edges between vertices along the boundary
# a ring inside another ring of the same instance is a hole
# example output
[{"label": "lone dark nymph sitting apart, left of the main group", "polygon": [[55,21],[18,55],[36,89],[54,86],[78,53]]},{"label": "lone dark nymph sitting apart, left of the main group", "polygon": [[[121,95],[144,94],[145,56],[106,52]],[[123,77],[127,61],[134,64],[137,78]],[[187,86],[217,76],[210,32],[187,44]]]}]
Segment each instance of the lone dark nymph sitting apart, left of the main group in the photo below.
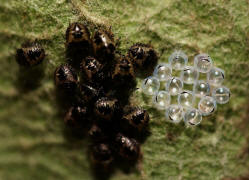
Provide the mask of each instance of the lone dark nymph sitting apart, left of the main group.
[{"label": "lone dark nymph sitting apart, left of the main group", "polygon": [[16,51],[16,61],[21,66],[35,66],[45,58],[45,50],[38,42],[31,42],[22,45]]}]

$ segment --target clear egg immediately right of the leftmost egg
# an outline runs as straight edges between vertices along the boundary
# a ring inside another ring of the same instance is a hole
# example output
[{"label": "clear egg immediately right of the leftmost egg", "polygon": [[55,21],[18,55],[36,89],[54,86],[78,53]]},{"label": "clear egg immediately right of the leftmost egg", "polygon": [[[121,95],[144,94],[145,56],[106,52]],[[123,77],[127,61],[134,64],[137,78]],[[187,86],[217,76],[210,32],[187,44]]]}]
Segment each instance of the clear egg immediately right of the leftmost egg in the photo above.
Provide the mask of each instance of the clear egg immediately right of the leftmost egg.
[{"label": "clear egg immediately right of the leftmost egg", "polygon": [[167,81],[165,89],[170,95],[176,96],[182,91],[182,88],[182,80],[178,77],[172,77]]}]

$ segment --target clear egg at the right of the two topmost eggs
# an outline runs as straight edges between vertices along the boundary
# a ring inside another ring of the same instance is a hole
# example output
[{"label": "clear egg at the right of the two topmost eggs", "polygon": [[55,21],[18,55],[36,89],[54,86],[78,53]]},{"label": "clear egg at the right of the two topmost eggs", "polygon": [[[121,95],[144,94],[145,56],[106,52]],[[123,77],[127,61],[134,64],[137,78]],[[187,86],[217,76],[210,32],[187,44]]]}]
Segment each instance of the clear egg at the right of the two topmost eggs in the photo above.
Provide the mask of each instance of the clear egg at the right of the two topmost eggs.
[{"label": "clear egg at the right of the two topmost eggs", "polygon": [[213,66],[213,61],[208,54],[199,54],[194,58],[194,66],[197,71],[207,73]]}]

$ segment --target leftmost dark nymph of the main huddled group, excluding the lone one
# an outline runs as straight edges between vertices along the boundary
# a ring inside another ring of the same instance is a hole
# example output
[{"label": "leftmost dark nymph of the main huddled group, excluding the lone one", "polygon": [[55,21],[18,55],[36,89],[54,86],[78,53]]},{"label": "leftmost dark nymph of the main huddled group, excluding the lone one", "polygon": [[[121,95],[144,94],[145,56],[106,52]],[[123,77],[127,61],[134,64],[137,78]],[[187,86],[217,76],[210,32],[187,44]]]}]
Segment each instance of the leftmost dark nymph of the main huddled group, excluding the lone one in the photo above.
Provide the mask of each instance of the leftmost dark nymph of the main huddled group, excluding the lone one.
[{"label": "leftmost dark nymph of the main huddled group, excluding the lone one", "polygon": [[54,73],[55,85],[65,92],[74,92],[78,86],[78,77],[75,70],[65,64],[59,66]]}]

